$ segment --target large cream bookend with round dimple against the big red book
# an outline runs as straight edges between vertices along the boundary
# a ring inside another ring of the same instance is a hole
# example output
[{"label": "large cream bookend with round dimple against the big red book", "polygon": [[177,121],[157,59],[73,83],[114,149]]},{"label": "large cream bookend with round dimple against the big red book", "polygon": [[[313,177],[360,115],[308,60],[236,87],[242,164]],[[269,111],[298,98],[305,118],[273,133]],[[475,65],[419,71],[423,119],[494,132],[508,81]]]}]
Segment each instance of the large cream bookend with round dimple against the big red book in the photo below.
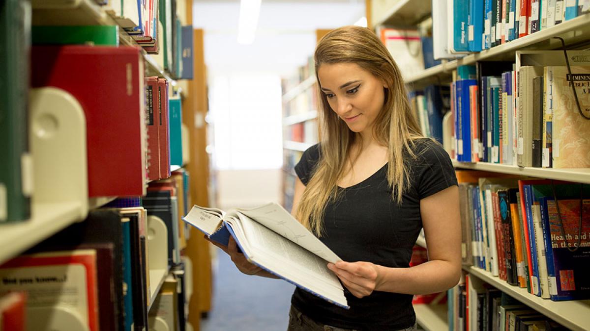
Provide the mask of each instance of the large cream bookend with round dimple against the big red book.
[{"label": "large cream bookend with round dimple against the big red book", "polygon": [[30,102],[32,204],[72,204],[77,207],[77,219],[86,219],[89,201],[84,110],[70,93],[54,87],[31,89]]}]

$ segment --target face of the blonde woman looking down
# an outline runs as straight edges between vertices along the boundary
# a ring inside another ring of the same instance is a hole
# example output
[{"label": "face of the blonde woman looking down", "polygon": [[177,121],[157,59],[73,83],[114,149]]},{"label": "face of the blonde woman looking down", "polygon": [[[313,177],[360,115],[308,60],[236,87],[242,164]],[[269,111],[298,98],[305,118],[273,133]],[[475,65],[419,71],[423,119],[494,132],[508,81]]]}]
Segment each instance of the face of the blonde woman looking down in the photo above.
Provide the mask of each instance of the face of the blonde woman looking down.
[{"label": "face of the blonde woman looking down", "polygon": [[348,128],[371,133],[385,100],[383,82],[354,63],[322,64],[317,77],[330,108]]}]

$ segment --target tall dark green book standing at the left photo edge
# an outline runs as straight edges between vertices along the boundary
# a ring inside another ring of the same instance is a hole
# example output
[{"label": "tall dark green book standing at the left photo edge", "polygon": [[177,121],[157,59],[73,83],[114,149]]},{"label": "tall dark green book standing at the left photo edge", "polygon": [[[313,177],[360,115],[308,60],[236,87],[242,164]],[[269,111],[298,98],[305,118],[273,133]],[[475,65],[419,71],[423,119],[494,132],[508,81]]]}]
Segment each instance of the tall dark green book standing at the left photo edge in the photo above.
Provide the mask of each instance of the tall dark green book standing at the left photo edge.
[{"label": "tall dark green book standing at the left photo edge", "polygon": [[31,216],[30,27],[30,2],[0,2],[0,223]]}]

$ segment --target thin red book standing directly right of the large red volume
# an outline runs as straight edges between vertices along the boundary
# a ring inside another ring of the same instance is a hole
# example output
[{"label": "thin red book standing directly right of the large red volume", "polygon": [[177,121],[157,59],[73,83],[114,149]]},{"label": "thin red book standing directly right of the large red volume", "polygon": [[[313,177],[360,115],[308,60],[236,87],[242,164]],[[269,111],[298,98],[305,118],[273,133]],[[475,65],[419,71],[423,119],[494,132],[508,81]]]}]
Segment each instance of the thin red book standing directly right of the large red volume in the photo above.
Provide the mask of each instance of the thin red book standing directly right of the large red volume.
[{"label": "thin red book standing directly right of the large red volume", "polygon": [[148,178],[160,179],[160,97],[158,77],[146,78],[146,123],[148,125]]}]

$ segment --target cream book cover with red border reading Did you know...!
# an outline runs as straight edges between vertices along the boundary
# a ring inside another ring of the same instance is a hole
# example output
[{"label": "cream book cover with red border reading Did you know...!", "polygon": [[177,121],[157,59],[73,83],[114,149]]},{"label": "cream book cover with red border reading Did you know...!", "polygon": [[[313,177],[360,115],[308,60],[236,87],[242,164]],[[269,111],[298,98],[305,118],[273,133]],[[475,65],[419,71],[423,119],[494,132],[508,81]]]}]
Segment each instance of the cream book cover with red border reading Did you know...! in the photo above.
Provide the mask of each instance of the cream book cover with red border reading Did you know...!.
[{"label": "cream book cover with red border reading Did you know...!", "polygon": [[[22,255],[2,264],[0,277],[4,289],[27,292],[35,311],[51,311],[29,318],[28,329],[63,329],[64,320],[76,319],[99,331],[96,262],[96,250],[90,249]],[[64,314],[71,317],[64,319]]]}]

